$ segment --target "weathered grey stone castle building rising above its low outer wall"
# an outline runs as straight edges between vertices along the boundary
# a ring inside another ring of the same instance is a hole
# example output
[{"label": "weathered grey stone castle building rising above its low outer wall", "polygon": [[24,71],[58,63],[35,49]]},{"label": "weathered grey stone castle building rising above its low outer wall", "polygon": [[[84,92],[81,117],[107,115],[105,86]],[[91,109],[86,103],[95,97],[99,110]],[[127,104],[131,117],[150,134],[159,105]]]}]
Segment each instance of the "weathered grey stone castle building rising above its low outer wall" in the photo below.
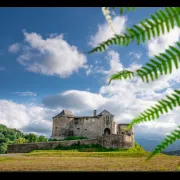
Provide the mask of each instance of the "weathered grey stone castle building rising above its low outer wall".
[{"label": "weathered grey stone castle building rising above its low outer wall", "polygon": [[92,116],[74,116],[69,110],[63,110],[53,117],[52,139],[64,139],[68,136],[83,136],[89,139],[104,135],[124,135],[134,142],[134,128],[125,130],[128,124],[117,124],[114,115],[107,110]]}]

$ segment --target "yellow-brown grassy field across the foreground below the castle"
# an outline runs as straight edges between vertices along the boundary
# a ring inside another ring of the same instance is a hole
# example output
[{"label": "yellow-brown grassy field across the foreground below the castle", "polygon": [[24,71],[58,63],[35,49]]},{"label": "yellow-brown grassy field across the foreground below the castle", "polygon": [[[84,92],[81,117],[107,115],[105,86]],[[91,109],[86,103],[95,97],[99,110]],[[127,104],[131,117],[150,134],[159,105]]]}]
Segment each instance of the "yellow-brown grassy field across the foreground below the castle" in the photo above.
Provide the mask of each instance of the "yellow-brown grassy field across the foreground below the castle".
[{"label": "yellow-brown grassy field across the foreground below the castle", "polygon": [[148,153],[43,150],[0,156],[0,171],[178,171],[180,156]]}]

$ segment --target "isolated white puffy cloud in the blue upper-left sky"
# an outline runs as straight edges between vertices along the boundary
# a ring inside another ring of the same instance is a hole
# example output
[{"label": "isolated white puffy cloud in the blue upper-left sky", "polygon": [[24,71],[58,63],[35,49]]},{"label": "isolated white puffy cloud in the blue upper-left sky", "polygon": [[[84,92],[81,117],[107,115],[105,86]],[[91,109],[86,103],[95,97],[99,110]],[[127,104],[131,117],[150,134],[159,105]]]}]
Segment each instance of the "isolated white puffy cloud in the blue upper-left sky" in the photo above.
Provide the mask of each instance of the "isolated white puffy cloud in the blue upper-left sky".
[{"label": "isolated white puffy cloud in the blue upper-left sky", "polygon": [[34,73],[67,78],[79,68],[85,68],[86,56],[76,46],[68,44],[63,34],[43,39],[40,34],[24,31],[25,42],[18,62]]}]

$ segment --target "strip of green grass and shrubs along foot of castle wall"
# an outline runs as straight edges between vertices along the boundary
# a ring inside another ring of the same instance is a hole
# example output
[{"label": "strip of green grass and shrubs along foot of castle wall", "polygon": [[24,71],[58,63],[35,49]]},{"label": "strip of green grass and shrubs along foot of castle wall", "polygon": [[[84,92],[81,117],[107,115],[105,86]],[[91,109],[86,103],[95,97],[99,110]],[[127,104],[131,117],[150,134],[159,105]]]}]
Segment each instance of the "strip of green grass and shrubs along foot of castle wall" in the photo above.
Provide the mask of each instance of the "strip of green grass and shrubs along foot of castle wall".
[{"label": "strip of green grass and shrubs along foot of castle wall", "polygon": [[130,149],[105,148],[98,144],[71,146],[57,146],[51,150],[34,150],[27,156],[65,156],[65,157],[118,157],[118,156],[148,156],[141,146],[135,143],[135,147]]}]

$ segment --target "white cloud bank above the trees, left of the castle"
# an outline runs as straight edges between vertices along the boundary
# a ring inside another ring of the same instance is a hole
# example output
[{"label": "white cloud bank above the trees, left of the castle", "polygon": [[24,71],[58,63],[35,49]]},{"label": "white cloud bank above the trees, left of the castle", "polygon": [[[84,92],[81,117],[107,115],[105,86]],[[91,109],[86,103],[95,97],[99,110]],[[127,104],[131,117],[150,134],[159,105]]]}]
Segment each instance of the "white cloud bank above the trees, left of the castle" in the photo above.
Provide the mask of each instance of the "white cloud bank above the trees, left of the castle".
[{"label": "white cloud bank above the trees, left of the castle", "polygon": [[35,104],[18,104],[0,100],[0,124],[25,133],[51,135],[51,118],[57,112]]}]

